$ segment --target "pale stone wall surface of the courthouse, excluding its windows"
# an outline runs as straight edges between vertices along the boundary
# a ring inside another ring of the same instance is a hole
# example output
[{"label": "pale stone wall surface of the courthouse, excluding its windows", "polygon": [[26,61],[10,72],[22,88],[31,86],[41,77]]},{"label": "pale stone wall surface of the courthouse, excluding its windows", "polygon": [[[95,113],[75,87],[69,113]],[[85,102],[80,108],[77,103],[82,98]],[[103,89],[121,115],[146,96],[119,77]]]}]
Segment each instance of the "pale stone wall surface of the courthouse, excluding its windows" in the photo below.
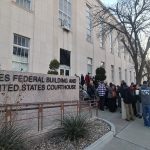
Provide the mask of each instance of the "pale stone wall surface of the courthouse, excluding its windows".
[{"label": "pale stone wall surface of the courthouse, excluding its windows", "polygon": [[[121,56],[118,56],[117,42],[113,42],[112,54],[109,39],[106,39],[103,48],[100,47],[96,29],[92,31],[91,42],[86,38],[87,6],[97,4],[96,0],[72,0],[70,31],[64,30],[59,21],[59,0],[31,0],[30,9],[16,2],[0,0],[0,69],[13,70],[13,43],[17,34],[29,39],[28,72],[47,73],[50,60],[56,58],[60,61],[60,49],[64,49],[70,52],[70,66],[61,65],[60,68],[69,70],[71,76],[85,75],[90,59],[92,76],[104,62],[108,82],[120,83],[119,68],[121,79],[125,80],[126,69],[127,83],[135,81],[129,55],[124,58],[125,54],[121,51]],[[111,65],[114,66],[114,81]]]}]

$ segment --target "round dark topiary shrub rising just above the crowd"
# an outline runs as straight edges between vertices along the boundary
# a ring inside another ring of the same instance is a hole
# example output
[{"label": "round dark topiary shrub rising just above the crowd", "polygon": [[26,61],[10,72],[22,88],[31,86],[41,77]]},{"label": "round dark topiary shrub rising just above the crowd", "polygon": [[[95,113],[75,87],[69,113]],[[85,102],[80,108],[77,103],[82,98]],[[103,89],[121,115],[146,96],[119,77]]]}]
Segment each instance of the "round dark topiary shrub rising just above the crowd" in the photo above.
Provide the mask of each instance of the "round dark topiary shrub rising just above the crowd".
[{"label": "round dark topiary shrub rising just above the crowd", "polygon": [[106,79],[106,71],[103,67],[99,67],[96,69],[95,81],[98,83],[99,81],[104,81]]}]

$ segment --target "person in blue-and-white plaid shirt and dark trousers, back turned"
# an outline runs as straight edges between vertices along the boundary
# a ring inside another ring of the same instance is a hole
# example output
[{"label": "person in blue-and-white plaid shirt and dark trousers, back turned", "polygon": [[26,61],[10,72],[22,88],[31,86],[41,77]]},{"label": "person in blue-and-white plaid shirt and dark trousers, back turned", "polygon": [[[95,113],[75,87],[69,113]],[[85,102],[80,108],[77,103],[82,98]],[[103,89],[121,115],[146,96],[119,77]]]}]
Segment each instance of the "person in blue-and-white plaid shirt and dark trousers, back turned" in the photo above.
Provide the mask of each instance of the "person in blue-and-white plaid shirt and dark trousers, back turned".
[{"label": "person in blue-and-white plaid shirt and dark trousers, back turned", "polygon": [[105,84],[103,81],[99,82],[97,92],[98,92],[98,96],[99,96],[99,108],[100,108],[100,110],[104,111],[106,87],[105,87]]}]

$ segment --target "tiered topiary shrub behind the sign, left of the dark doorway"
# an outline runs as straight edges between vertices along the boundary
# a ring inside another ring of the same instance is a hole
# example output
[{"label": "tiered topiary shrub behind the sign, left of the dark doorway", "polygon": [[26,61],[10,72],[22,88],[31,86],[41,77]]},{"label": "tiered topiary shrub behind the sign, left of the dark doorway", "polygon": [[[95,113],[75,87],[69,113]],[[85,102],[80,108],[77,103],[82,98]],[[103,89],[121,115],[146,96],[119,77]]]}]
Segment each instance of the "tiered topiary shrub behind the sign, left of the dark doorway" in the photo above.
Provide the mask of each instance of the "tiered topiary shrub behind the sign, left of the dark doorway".
[{"label": "tiered topiary shrub behind the sign, left of the dark doorway", "polygon": [[59,68],[59,62],[57,59],[53,59],[51,60],[50,64],[49,64],[49,71],[48,74],[55,74],[58,75],[58,71],[57,69]]}]

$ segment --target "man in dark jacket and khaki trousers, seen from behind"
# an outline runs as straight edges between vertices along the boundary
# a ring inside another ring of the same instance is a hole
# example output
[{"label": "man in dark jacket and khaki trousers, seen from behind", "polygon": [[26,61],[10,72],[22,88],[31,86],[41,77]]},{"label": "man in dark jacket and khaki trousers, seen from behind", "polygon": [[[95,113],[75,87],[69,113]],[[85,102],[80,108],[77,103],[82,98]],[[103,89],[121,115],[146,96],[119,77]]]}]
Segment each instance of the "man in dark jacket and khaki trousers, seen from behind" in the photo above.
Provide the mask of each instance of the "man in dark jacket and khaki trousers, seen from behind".
[{"label": "man in dark jacket and khaki trousers, seen from behind", "polygon": [[134,120],[134,114],[132,109],[132,100],[134,98],[134,87],[131,85],[129,88],[125,90],[125,108],[126,108],[126,120]]}]

